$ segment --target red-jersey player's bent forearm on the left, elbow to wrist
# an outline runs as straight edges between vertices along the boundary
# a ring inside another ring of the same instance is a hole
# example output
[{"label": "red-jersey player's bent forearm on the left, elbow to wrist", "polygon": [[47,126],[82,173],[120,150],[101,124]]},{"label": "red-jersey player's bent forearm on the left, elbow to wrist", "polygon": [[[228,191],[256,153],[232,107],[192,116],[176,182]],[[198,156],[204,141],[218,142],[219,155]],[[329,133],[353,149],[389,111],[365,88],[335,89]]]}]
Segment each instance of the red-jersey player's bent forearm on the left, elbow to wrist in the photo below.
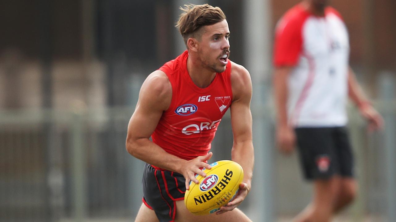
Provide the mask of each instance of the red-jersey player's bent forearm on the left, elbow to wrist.
[{"label": "red-jersey player's bent forearm on the left, elbow to wrist", "polygon": [[169,154],[148,138],[127,139],[126,149],[132,156],[154,166],[180,173],[187,160]]}]

